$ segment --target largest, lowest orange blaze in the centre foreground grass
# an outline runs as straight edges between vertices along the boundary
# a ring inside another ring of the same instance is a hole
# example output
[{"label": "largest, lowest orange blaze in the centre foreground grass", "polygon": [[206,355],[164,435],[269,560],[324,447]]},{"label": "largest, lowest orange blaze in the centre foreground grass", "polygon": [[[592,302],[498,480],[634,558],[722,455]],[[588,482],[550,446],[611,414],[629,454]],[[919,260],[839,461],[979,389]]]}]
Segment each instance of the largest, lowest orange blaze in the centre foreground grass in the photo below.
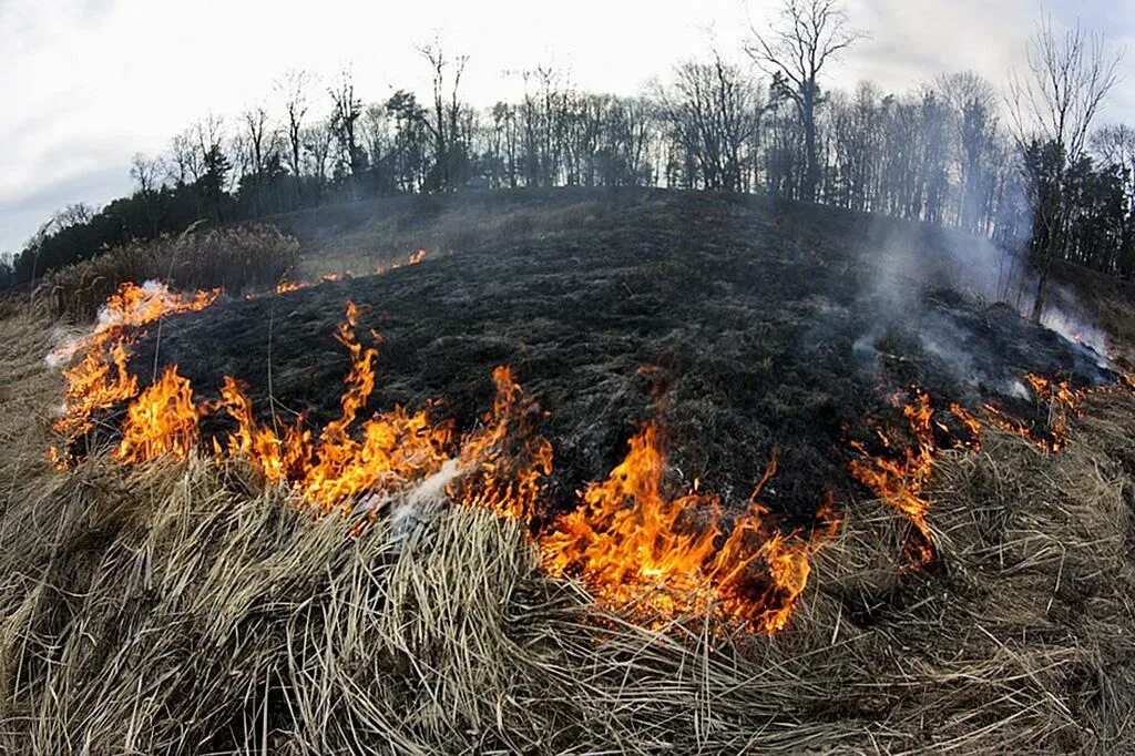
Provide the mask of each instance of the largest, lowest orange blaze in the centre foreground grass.
[{"label": "largest, lowest orange blaze in the centre foreground grass", "polygon": [[630,439],[607,479],[540,539],[554,576],[579,576],[603,602],[662,616],[716,613],[765,632],[783,628],[807,585],[809,557],[838,521],[825,504],[810,534],[770,534],[757,502],[775,472],[770,462],[748,511],[726,536],[721,502],[688,490],[667,495],[667,457],[656,426]]}]

